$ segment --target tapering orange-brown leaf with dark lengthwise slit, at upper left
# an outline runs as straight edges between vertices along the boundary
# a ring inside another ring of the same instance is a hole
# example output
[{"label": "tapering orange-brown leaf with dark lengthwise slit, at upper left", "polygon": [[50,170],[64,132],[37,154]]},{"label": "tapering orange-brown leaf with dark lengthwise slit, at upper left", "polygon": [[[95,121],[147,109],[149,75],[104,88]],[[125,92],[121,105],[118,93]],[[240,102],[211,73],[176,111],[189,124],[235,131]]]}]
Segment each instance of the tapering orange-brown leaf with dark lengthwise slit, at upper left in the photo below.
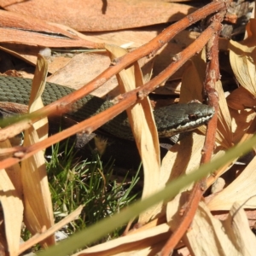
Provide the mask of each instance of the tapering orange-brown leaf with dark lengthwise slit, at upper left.
[{"label": "tapering orange-brown leaf with dark lengthwise slit, at upper left", "polygon": [[[52,8],[50,3],[49,8]],[[30,15],[21,15],[4,10],[0,10],[0,15],[0,43],[90,49],[103,48],[104,46],[104,44],[86,40],[84,35],[67,26],[55,25]]]}]

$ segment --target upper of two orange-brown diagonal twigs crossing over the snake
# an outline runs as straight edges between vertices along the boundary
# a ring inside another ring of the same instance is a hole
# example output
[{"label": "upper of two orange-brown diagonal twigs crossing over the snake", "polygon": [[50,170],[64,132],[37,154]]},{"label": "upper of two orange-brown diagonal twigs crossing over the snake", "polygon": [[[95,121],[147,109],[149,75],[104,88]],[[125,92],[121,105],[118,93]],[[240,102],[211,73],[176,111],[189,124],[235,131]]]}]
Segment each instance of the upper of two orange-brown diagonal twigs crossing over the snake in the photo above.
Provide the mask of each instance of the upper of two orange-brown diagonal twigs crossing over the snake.
[{"label": "upper of two orange-brown diagonal twigs crossing over the snake", "polygon": [[[49,104],[48,106],[39,109],[34,112],[32,118],[27,116],[30,119],[30,123],[34,123],[45,116],[54,115],[55,113],[65,113],[69,110],[70,104],[75,101],[78,101],[83,96],[86,96],[91,91],[96,90],[102,84],[106,83],[116,73],[119,73],[125,67],[130,66],[133,62],[143,58],[146,55],[155,55],[155,53],[167,44],[178,32],[183,31],[186,27],[195,23],[198,20],[205,18],[207,15],[225,9],[224,2],[212,2],[207,4],[205,7],[196,10],[193,14],[184,17],[182,20],[179,20],[177,23],[169,26],[161,32],[157,37],[152,39],[147,44],[131,51],[130,53],[116,59],[113,61],[112,66],[108,67],[104,72],[98,75],[95,79],[91,80],[90,83],[84,85],[79,90],[74,91],[72,94],[62,97],[60,100]],[[131,105],[130,105],[131,106]],[[10,127],[11,125],[9,125]],[[0,131],[0,137],[6,137],[8,132],[7,128],[4,128]]]}]

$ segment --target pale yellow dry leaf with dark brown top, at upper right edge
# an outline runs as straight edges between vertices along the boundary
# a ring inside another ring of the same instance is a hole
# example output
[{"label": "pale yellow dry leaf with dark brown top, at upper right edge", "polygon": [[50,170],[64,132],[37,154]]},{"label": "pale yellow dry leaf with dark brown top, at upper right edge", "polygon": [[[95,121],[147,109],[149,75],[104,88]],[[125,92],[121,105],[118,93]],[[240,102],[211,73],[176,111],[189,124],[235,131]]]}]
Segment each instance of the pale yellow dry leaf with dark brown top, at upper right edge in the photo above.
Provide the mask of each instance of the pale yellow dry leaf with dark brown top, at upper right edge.
[{"label": "pale yellow dry leaf with dark brown top, at upper right edge", "polygon": [[230,64],[239,84],[256,96],[256,20],[251,19],[246,28],[245,40],[230,40]]}]

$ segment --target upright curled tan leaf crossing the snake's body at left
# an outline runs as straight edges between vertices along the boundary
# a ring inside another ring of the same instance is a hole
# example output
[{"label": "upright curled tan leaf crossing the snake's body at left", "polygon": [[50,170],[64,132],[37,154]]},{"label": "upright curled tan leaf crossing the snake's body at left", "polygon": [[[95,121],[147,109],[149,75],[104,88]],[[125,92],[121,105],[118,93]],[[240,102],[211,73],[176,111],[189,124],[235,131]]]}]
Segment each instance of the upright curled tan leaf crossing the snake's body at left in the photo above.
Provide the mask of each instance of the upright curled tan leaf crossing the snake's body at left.
[{"label": "upright curled tan leaf crossing the snake's body at left", "polygon": [[[44,90],[46,75],[47,61],[38,55],[38,66],[29,102],[30,112],[43,107],[40,93]],[[37,89],[34,85],[38,85],[38,81],[40,88]],[[43,81],[42,84],[41,81]],[[39,130],[43,130],[43,133],[45,133],[45,123],[47,123],[47,119],[42,119],[25,131],[24,147],[38,143],[40,137],[41,139],[45,137],[45,134],[38,134],[36,131],[36,129],[40,128]],[[32,157],[21,162],[21,181],[25,204],[24,222],[33,235],[41,233],[45,228],[49,229],[54,224],[43,151],[39,151],[37,154],[33,154]],[[43,247],[49,247],[53,244],[55,244],[55,236],[49,236],[44,241],[41,241]]]}]

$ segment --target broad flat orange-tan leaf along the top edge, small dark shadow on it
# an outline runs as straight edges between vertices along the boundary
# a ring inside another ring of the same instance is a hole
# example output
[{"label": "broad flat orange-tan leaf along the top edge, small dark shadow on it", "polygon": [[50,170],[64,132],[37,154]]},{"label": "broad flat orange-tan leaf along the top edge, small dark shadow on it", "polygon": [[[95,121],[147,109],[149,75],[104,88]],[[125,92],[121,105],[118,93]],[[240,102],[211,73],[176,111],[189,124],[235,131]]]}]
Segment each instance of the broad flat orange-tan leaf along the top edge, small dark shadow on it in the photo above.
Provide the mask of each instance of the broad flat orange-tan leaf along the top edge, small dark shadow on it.
[{"label": "broad flat orange-tan leaf along the top edge, small dark shadow on it", "polygon": [[113,31],[180,20],[195,8],[153,0],[2,0],[3,9],[73,27],[78,31]]}]

